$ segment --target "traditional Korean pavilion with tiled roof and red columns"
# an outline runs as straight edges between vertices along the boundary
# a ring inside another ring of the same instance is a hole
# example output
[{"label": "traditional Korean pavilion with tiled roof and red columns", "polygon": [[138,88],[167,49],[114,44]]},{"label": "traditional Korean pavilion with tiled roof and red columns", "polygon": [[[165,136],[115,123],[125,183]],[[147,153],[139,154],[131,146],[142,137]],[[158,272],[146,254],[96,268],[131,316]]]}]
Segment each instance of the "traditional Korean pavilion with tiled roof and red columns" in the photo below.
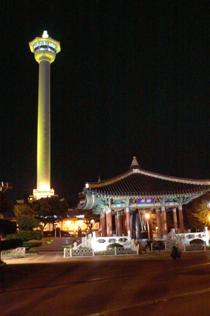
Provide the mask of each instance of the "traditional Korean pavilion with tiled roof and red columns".
[{"label": "traditional Korean pavilion with tiled roof and red columns", "polygon": [[166,212],[173,211],[175,233],[184,233],[182,205],[210,191],[210,180],[192,180],[165,176],[142,170],[133,157],[130,170],[115,178],[90,183],[83,189],[79,209],[100,214],[101,236],[112,236],[115,216],[116,235],[131,232],[133,238],[141,238],[141,231],[148,228],[153,238],[152,213],[156,213],[158,238],[168,234]]}]

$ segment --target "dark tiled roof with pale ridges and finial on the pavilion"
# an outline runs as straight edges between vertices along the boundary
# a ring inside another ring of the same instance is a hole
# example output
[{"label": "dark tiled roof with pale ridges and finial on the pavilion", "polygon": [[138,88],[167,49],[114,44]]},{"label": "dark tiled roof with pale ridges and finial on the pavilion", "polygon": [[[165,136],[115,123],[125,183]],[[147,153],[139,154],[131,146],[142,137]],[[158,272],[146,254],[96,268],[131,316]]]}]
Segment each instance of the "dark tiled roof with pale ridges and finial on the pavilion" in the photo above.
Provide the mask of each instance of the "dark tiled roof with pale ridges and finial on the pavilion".
[{"label": "dark tiled roof with pale ridges and finial on the pavilion", "polygon": [[128,172],[109,180],[87,183],[86,188],[99,196],[172,197],[210,191],[210,180],[175,178],[148,172],[140,169],[134,157]]}]

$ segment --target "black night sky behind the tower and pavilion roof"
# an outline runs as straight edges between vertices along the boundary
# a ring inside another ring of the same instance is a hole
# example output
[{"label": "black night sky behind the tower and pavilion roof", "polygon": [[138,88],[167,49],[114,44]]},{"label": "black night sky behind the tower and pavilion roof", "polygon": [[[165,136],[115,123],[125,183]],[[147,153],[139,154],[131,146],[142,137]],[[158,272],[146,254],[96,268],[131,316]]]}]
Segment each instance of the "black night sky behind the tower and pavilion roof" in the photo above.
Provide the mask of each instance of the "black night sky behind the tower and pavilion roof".
[{"label": "black night sky behind the tower and pavilion roof", "polygon": [[39,64],[28,42],[60,41],[51,64],[51,187],[142,169],[210,178],[209,1],[1,0],[0,180],[36,187]]}]

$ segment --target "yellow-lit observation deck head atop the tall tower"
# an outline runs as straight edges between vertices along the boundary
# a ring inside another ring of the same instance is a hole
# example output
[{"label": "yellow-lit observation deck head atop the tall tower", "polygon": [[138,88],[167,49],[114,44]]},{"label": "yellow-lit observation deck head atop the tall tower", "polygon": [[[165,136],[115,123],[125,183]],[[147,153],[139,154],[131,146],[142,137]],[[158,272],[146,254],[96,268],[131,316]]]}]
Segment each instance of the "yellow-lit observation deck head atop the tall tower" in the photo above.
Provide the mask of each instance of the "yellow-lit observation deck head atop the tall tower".
[{"label": "yellow-lit observation deck head atop the tall tower", "polygon": [[49,37],[47,31],[43,32],[42,37],[36,37],[29,42],[29,47],[38,63],[42,58],[48,59],[52,63],[56,54],[61,50],[60,42]]}]

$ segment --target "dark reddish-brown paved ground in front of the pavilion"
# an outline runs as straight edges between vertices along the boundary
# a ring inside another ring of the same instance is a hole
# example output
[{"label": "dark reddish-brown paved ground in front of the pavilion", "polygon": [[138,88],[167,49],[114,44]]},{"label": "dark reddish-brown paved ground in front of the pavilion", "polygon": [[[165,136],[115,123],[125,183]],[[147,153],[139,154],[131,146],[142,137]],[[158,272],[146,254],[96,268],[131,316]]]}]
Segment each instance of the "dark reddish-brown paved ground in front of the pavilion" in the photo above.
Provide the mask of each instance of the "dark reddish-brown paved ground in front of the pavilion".
[{"label": "dark reddish-brown paved ground in front of the pavilion", "polygon": [[210,253],[6,260],[1,316],[209,316]]}]

